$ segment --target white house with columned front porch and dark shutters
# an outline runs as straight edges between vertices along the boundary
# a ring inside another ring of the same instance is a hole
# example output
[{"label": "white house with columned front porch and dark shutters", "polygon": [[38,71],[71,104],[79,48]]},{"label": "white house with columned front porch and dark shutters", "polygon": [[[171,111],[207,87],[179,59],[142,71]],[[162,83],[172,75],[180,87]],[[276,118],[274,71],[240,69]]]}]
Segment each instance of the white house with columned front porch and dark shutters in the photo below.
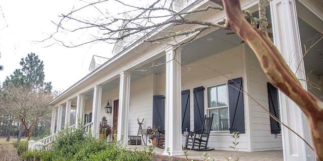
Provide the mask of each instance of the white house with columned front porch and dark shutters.
[{"label": "white house with columned front porch and dark shutters", "polygon": [[[258,1],[240,2],[242,9],[257,12]],[[187,10],[212,4],[196,1]],[[304,45],[308,48],[323,34],[323,2],[273,0],[267,12],[273,26],[269,29],[274,35],[272,40],[286,62],[300,80],[312,83],[301,81],[302,85],[322,98],[323,92],[312,87],[321,82],[323,75],[322,41],[304,59],[302,53]],[[224,17],[225,13],[220,11],[196,15],[212,22]],[[136,42],[115,47],[120,52],[110,59],[93,57],[91,72],[50,102],[51,132],[64,125],[72,126],[69,125],[72,103],[77,105],[77,118],[85,116],[85,122],[91,124],[93,135],[97,135],[99,121],[106,116],[110,125],[117,126],[117,138],[123,135],[126,142],[129,135],[137,135],[137,118],[145,118],[143,128],[153,124],[164,128],[171,155],[182,155],[182,129],[201,128],[203,116],[214,114],[209,147],[230,150],[230,132],[239,131],[241,151],[283,149],[285,160],[313,160],[313,151],[294,133],[281,129],[260,105],[310,142],[305,117],[291,100],[267,84],[253,51],[237,35],[227,35],[229,32],[232,31],[208,30],[176,54],[171,46],[160,44],[139,54],[136,51],[145,48],[145,44]],[[171,60],[174,56],[181,64]],[[97,61],[101,64],[96,65]],[[152,63],[160,62],[168,63],[151,67]],[[113,106],[110,115],[104,111],[107,101]]]}]

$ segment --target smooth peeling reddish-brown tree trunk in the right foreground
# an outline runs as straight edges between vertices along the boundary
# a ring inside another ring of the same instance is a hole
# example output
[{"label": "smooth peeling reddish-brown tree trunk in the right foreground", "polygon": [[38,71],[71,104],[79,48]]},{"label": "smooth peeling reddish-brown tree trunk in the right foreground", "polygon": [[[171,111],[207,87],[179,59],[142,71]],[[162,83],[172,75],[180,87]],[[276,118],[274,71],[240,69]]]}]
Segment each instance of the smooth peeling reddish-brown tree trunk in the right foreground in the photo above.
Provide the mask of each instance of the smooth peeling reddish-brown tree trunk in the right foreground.
[{"label": "smooth peeling reddish-brown tree trunk in the right foreground", "polygon": [[266,33],[244,18],[239,0],[211,0],[224,7],[226,25],[244,40],[256,54],[270,82],[292,99],[310,125],[315,157],[323,160],[323,103],[306,91]]}]

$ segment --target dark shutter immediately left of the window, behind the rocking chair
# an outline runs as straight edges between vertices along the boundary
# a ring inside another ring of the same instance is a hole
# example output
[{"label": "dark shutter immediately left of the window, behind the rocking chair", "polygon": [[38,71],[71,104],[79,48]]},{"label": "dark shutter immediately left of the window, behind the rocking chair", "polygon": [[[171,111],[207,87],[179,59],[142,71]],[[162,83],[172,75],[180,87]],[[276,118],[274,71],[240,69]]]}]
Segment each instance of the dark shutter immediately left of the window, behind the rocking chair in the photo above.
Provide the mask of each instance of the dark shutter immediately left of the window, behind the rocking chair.
[{"label": "dark shutter immediately left of the window, behind the rocking chair", "polygon": [[194,131],[203,128],[204,121],[204,87],[193,89],[194,94]]}]

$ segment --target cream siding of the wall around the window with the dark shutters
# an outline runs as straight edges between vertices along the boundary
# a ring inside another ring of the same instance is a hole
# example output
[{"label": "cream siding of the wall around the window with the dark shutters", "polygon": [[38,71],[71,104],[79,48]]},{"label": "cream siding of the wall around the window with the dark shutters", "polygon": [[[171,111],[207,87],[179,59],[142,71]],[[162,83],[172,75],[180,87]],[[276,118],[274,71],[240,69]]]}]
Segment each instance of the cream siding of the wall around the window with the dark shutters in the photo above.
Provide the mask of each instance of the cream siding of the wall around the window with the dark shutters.
[{"label": "cream siding of the wall around the window with the dark shutters", "polygon": [[[194,129],[194,99],[193,99],[193,89],[196,87],[207,87],[212,85],[226,84],[228,78],[222,76],[225,74],[230,78],[243,77],[243,59],[241,47],[235,47],[233,49],[224,51],[207,57],[205,59],[194,62],[188,67],[189,72],[182,73],[182,90],[190,90],[190,129]],[[185,61],[185,60],[182,60]],[[195,64],[195,65],[194,65]],[[199,65],[196,65],[199,64]],[[205,66],[206,67],[205,67]],[[217,70],[211,70],[211,69]],[[220,73],[221,74],[220,74]],[[242,78],[244,81],[244,78]],[[206,101],[206,92],[204,91],[204,102]],[[246,107],[247,97],[244,95],[244,106]],[[204,103],[204,109],[206,105]],[[250,151],[250,137],[248,133],[249,123],[248,118],[246,118],[246,113],[248,111],[244,108],[245,113],[245,134],[240,134],[238,139],[238,149],[240,151]],[[206,114],[206,110],[204,111]],[[209,137],[208,146],[218,150],[233,150],[229,146],[232,146],[232,141],[234,139],[231,137],[229,132],[211,132]]]}]

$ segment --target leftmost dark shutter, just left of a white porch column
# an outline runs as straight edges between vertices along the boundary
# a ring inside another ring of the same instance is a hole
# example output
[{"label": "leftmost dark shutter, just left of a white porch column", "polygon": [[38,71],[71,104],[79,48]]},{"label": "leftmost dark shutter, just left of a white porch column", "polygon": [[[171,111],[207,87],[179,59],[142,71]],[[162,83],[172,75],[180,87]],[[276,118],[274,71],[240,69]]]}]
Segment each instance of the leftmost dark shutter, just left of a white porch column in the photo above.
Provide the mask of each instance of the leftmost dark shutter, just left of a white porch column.
[{"label": "leftmost dark shutter, just left of a white porch column", "polygon": [[165,96],[152,97],[152,125],[165,130]]}]

